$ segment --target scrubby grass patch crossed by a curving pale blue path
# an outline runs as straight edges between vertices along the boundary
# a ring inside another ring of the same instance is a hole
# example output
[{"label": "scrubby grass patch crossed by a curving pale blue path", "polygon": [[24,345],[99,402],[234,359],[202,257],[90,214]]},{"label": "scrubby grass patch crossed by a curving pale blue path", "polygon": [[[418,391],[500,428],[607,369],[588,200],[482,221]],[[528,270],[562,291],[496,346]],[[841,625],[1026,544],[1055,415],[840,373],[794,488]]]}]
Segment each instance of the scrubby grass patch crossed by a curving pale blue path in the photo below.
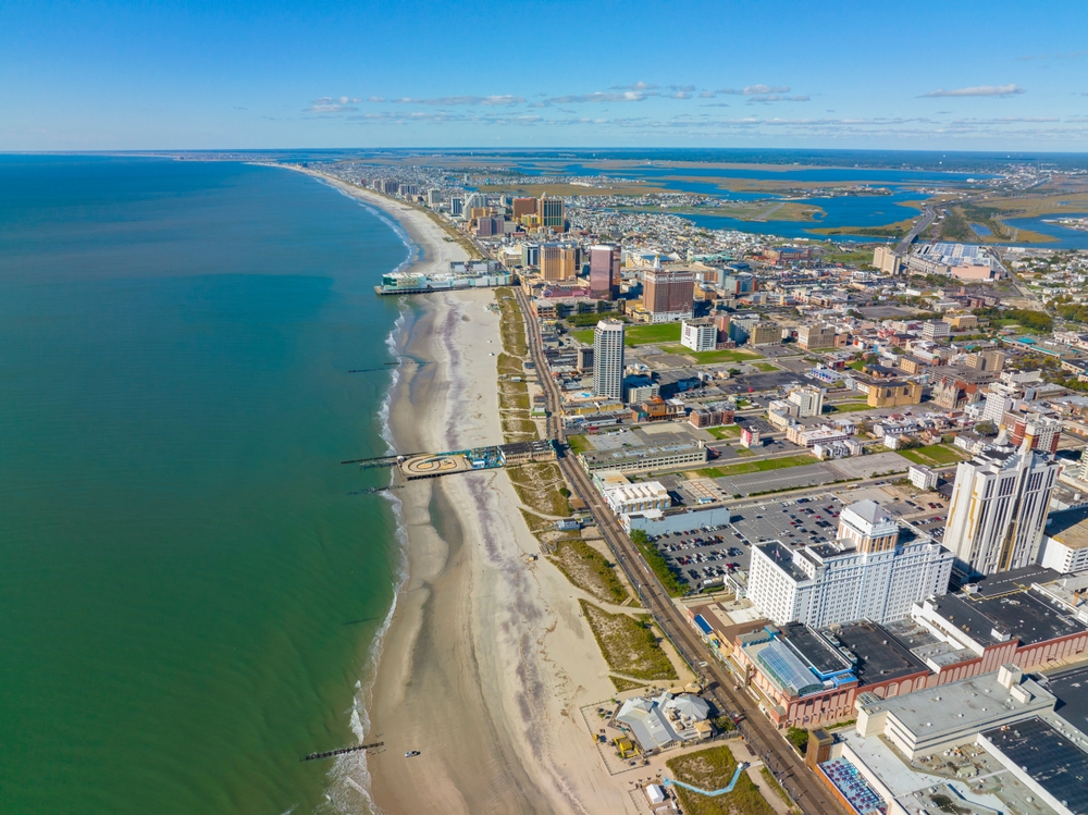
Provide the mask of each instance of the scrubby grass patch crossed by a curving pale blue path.
[{"label": "scrubby grass patch crossed by a curving pale blue path", "polygon": [[[729,748],[720,746],[670,758],[665,766],[676,780],[713,791],[729,785],[737,760]],[[672,789],[689,815],[774,815],[775,812],[745,773],[741,773],[732,792],[724,795],[700,795],[682,787]]]}]

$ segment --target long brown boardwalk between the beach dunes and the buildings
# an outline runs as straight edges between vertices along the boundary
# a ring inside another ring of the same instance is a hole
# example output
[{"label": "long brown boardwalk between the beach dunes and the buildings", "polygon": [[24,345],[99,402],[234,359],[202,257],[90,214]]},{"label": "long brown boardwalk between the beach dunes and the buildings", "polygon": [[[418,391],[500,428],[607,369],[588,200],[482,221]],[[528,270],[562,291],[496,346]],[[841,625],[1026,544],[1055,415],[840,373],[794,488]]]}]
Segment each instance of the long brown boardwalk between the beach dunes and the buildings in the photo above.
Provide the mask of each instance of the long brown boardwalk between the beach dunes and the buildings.
[{"label": "long brown boardwalk between the beach dunes and the buildings", "polygon": [[536,366],[541,386],[547,396],[547,434],[549,439],[560,443],[559,468],[570,484],[571,491],[585,502],[601,534],[631,585],[638,592],[642,604],[653,614],[662,631],[669,638],[683,659],[703,679],[713,693],[718,708],[724,712],[741,714],[739,728],[749,748],[756,756],[763,758],[779,783],[786,788],[805,815],[842,815],[843,810],[830,797],[827,789],[807,771],[802,760],[786,742],[782,734],[759,711],[755,700],[746,691],[740,689],[740,679],[721,665],[695,634],[683,614],[672,603],[657,576],[646,566],[631,539],[627,536],[616,517],[605,505],[599,493],[593,489],[585,471],[573,457],[564,455],[559,391],[548,374],[547,363],[544,360],[540,325],[521,289],[515,288],[515,293],[524,318],[529,350]]}]

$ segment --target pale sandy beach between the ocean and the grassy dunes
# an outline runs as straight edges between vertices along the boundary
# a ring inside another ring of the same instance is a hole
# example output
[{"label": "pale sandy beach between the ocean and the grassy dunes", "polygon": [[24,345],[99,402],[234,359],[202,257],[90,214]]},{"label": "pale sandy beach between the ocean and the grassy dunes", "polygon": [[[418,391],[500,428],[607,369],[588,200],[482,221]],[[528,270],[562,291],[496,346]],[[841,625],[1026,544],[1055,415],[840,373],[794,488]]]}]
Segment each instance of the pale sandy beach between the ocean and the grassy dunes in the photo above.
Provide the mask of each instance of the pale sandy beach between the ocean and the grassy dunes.
[{"label": "pale sandy beach between the ocean and the grassy dunes", "polygon": [[[332,183],[330,181],[330,183]],[[422,264],[463,258],[426,214],[366,190]],[[391,424],[398,449],[498,444],[498,316],[491,289],[426,295],[403,333]],[[404,502],[409,578],[370,700],[376,808],[409,813],[636,812],[579,707],[615,694],[574,589],[539,554],[503,471],[412,482]],[[405,758],[408,750],[422,755]]]}]

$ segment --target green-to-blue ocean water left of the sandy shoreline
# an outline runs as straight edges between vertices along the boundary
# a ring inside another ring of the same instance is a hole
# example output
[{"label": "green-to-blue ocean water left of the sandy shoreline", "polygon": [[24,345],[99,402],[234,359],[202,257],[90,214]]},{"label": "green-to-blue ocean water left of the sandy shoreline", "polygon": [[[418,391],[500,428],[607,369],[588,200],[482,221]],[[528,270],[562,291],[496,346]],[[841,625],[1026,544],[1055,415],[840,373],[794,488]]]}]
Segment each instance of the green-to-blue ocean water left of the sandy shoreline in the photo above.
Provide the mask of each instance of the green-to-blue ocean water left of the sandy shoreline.
[{"label": "green-to-blue ocean water left of the sandy shoreline", "polygon": [[0,812],[344,800],[407,254],[283,170],[0,157]]}]

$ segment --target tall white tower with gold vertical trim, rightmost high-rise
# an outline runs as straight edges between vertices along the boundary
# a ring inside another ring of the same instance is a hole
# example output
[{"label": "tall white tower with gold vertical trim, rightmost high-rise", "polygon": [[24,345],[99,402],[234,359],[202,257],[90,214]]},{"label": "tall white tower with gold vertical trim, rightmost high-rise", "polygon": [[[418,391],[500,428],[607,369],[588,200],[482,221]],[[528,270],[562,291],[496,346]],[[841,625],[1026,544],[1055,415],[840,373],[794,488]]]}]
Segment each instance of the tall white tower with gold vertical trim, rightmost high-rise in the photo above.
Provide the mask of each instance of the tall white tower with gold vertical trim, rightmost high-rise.
[{"label": "tall white tower with gold vertical trim, rightmost high-rise", "polygon": [[944,545],[963,577],[1019,569],[1036,559],[1059,464],[1031,449],[996,445],[956,465]]}]

